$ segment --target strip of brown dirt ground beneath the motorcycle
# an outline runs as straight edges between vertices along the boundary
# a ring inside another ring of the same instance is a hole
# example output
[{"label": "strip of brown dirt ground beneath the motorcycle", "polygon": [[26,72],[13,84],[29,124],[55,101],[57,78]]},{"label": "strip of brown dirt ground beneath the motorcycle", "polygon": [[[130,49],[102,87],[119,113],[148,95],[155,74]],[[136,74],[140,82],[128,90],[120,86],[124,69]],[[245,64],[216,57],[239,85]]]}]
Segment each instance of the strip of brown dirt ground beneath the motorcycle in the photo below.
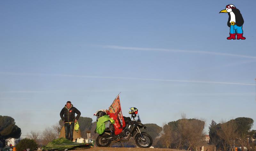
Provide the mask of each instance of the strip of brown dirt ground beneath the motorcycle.
[{"label": "strip of brown dirt ground beneath the motorcycle", "polygon": [[73,150],[73,151],[181,151],[181,150],[163,149],[163,148],[94,147],[90,149]]}]

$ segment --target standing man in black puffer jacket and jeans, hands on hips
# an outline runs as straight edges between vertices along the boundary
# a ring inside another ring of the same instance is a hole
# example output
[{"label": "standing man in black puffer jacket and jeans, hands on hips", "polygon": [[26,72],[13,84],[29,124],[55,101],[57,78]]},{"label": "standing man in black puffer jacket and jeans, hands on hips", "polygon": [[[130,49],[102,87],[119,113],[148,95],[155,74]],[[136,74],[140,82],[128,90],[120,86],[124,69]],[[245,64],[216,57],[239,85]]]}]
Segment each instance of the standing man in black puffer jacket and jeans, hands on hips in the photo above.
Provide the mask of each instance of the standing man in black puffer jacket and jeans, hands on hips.
[{"label": "standing man in black puffer jacket and jeans, hands on hips", "polygon": [[[76,118],[75,113],[77,114]],[[65,107],[63,107],[60,111],[60,118],[62,119],[62,121],[64,121],[66,139],[73,141],[74,125],[80,117],[80,115],[81,112],[78,109],[76,109],[76,107],[74,107],[70,101],[68,101]]]}]

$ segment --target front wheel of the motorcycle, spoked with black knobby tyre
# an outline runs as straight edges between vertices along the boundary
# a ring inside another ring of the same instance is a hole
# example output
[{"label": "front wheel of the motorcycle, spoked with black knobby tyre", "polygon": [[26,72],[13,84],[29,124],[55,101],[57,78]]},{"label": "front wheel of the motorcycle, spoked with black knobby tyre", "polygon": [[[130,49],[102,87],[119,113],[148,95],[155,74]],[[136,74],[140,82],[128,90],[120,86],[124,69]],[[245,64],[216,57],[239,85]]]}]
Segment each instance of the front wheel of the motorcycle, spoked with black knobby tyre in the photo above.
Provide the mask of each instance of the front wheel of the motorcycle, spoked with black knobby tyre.
[{"label": "front wheel of the motorcycle, spoked with black knobby tyre", "polygon": [[[143,136],[143,138],[141,137],[141,135]],[[138,133],[135,136],[135,142],[140,148],[149,148],[152,145],[153,140],[152,137],[147,133]]]}]

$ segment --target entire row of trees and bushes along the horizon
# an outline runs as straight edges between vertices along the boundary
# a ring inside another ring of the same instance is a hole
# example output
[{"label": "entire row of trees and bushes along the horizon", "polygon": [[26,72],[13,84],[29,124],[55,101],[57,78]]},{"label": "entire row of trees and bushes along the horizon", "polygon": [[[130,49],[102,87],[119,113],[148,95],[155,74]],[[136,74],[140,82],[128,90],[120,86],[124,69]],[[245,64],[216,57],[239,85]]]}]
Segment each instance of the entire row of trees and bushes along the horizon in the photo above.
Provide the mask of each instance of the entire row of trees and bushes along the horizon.
[{"label": "entire row of trees and bushes along the horizon", "polygon": [[[229,121],[221,120],[216,123],[212,120],[209,126],[211,151],[234,151],[234,147],[244,147],[247,151],[256,151],[255,139],[256,130],[251,130],[253,126],[252,118],[239,117]],[[79,128],[83,138],[86,138],[86,131],[91,131],[92,138],[95,140],[98,136],[94,133],[96,122],[92,118],[80,117],[78,120]],[[61,128],[64,122],[59,120],[58,123],[46,127],[43,131],[30,131],[26,138],[33,139],[38,147],[47,145],[53,139],[59,138]],[[173,148],[183,150],[199,150],[200,146],[205,145],[204,119],[187,119],[183,114],[181,119],[164,123],[158,126],[155,123],[145,124],[146,131],[153,139],[153,145],[156,148]],[[21,130],[15,125],[14,119],[9,116],[0,116],[0,140],[4,142],[8,138],[20,138]],[[253,142],[254,140],[254,142]],[[133,139],[124,145],[134,145]]]}]

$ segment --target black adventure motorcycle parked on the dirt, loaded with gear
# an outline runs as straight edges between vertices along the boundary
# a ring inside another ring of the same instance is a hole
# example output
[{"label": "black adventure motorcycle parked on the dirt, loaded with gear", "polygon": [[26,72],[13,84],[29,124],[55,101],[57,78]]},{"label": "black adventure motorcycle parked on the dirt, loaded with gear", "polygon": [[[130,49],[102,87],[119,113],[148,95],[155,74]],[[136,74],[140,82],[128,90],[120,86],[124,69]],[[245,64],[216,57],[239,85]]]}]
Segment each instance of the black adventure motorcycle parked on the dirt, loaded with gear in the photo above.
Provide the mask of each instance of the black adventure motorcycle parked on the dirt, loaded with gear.
[{"label": "black adventure motorcycle parked on the dirt, loaded with gear", "polygon": [[[106,115],[104,113],[102,114],[102,112],[103,111],[100,111],[100,115]],[[98,118],[99,117],[97,117],[97,119]],[[125,116],[123,116],[123,118],[125,127],[119,135],[115,135],[114,126],[108,121],[105,123],[106,129],[104,133],[97,137],[96,144],[99,147],[108,147],[112,141],[128,142],[133,137],[138,147],[149,148],[152,145],[153,140],[148,133],[140,131],[140,129],[147,129],[147,127],[141,123],[140,116],[138,115],[138,120],[134,119],[134,115],[132,115],[133,120],[131,120],[130,117]]]}]

